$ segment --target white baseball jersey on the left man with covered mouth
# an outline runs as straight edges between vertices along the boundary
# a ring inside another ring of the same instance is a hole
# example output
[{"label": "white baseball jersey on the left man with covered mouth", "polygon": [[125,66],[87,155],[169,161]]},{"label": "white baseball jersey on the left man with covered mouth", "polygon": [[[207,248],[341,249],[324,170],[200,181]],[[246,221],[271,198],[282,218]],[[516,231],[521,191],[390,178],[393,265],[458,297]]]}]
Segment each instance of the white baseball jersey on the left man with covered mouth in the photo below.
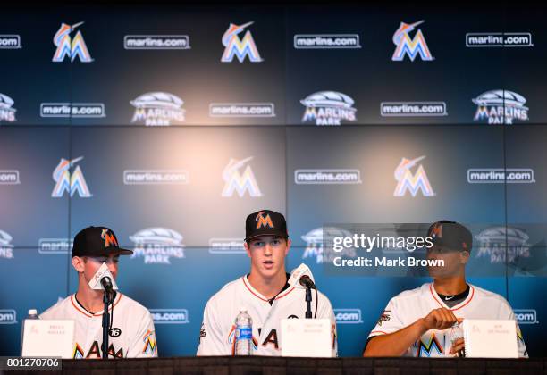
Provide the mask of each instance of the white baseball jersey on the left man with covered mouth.
[{"label": "white baseball jersey on the left man with covered mouth", "polygon": [[[130,297],[116,293],[114,321],[108,337],[109,358],[156,357],[156,333],[150,312]],[[91,313],[68,296],[40,315],[40,319],[74,321],[74,351],[72,358],[101,358],[103,342],[103,312]]]}]

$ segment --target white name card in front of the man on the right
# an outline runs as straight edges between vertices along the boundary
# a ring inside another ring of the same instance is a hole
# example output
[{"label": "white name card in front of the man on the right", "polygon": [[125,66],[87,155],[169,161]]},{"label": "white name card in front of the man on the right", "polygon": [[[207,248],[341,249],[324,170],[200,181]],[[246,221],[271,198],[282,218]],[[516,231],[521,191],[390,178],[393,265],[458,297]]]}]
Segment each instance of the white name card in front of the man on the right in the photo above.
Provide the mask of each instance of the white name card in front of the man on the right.
[{"label": "white name card in front of the man on the right", "polygon": [[466,356],[470,358],[518,358],[515,321],[464,319]]}]

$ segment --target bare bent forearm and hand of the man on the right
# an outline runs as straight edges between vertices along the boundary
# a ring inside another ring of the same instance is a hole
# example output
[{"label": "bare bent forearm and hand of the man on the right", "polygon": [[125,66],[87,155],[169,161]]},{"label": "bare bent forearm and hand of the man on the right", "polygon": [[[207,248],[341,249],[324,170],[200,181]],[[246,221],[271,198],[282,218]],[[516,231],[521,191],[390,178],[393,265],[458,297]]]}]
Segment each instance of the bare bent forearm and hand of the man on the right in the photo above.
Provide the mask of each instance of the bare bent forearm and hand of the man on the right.
[{"label": "bare bent forearm and hand of the man on the right", "polygon": [[459,321],[462,319],[456,318],[454,312],[447,308],[432,310],[425,318],[420,318],[403,329],[372,337],[363,356],[400,356],[429,329],[448,329]]}]

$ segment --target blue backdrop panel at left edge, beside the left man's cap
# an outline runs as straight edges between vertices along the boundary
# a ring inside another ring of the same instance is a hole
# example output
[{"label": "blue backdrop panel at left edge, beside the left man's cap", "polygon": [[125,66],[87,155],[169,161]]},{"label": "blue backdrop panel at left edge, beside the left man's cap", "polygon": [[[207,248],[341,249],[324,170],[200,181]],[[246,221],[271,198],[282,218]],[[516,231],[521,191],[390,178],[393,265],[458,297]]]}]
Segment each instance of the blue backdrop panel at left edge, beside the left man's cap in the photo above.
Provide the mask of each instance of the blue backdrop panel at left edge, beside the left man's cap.
[{"label": "blue backdrop panel at left edge, beside the left man's cap", "polygon": [[0,185],[0,230],[12,237],[7,245],[37,247],[40,239],[68,236],[67,174],[59,168],[56,182],[54,171],[70,160],[69,133],[58,127],[0,127],[0,170],[19,176],[19,183]]}]

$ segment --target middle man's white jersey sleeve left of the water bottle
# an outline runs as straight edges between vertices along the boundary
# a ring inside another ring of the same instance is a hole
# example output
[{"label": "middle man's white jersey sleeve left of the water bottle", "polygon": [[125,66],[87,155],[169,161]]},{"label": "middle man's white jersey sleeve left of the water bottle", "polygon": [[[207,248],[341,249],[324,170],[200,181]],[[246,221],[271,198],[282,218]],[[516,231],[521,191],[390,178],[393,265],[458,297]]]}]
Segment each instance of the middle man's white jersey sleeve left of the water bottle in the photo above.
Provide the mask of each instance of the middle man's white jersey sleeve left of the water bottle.
[{"label": "middle man's white jersey sleeve left of the water bottle", "polygon": [[231,348],[227,341],[223,340],[219,314],[222,309],[215,308],[215,301],[209,300],[203,312],[203,322],[199,330],[199,346],[197,355],[231,355]]}]

